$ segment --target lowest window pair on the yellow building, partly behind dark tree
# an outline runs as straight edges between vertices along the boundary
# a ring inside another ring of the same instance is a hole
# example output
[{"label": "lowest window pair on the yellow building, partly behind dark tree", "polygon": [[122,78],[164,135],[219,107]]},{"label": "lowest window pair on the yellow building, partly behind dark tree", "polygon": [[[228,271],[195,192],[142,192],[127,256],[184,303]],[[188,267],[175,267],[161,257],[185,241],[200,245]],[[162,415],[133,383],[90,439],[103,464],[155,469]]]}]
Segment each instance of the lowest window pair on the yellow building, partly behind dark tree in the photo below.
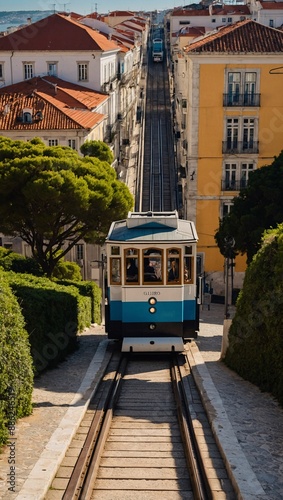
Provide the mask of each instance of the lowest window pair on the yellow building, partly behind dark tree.
[{"label": "lowest window pair on the yellow building, partly behind dark tree", "polygon": [[240,191],[247,186],[251,172],[255,170],[255,164],[250,162],[226,162],[224,164],[223,191]]}]

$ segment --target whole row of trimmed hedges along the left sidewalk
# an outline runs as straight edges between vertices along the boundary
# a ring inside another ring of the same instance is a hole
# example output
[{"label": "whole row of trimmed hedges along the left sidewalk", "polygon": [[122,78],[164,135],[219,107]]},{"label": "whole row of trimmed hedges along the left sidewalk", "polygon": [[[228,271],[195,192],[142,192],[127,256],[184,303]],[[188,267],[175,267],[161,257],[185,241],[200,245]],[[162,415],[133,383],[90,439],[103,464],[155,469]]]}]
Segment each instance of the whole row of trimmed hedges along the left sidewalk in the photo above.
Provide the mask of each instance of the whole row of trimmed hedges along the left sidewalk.
[{"label": "whole row of trimmed hedges along the left sidewalk", "polygon": [[101,317],[96,283],[4,271],[23,269],[32,259],[23,262],[7,251],[2,257],[4,266],[0,252],[0,446],[9,425],[32,411],[34,372],[62,361],[77,348],[77,333]]}]

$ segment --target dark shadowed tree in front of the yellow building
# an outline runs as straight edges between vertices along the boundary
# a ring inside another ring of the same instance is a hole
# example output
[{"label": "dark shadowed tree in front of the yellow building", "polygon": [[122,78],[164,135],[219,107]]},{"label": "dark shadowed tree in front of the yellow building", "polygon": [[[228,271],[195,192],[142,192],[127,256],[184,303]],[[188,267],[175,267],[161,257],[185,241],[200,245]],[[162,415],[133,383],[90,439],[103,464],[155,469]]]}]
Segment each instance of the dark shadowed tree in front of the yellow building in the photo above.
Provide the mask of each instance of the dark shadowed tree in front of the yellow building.
[{"label": "dark shadowed tree in front of the yellow building", "polygon": [[253,172],[247,187],[235,197],[230,213],[219,223],[215,240],[223,255],[227,238],[234,238],[234,254],[247,254],[251,262],[266,229],[283,221],[283,151],[271,165]]}]

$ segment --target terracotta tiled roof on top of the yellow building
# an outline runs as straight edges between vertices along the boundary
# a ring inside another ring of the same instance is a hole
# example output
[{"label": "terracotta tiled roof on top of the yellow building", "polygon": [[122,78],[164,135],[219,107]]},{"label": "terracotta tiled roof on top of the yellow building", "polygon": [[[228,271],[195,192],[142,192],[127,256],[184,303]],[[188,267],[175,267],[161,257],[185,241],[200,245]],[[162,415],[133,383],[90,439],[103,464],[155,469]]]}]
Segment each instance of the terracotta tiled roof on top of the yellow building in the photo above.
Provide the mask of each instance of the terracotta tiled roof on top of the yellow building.
[{"label": "terracotta tiled roof on top of the yellow building", "polygon": [[283,32],[247,19],[208,34],[184,50],[198,53],[283,52]]}]

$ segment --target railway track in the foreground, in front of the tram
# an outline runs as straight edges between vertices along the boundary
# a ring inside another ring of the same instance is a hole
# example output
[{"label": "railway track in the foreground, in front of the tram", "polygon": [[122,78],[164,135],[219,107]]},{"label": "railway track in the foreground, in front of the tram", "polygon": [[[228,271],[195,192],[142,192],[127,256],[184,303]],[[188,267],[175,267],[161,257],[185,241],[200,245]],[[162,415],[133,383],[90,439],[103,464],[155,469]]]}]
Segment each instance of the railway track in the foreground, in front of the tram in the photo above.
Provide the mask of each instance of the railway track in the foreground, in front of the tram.
[{"label": "railway track in the foreground, in front of the tram", "polygon": [[235,498],[183,354],[114,352],[67,455],[56,498]]}]

